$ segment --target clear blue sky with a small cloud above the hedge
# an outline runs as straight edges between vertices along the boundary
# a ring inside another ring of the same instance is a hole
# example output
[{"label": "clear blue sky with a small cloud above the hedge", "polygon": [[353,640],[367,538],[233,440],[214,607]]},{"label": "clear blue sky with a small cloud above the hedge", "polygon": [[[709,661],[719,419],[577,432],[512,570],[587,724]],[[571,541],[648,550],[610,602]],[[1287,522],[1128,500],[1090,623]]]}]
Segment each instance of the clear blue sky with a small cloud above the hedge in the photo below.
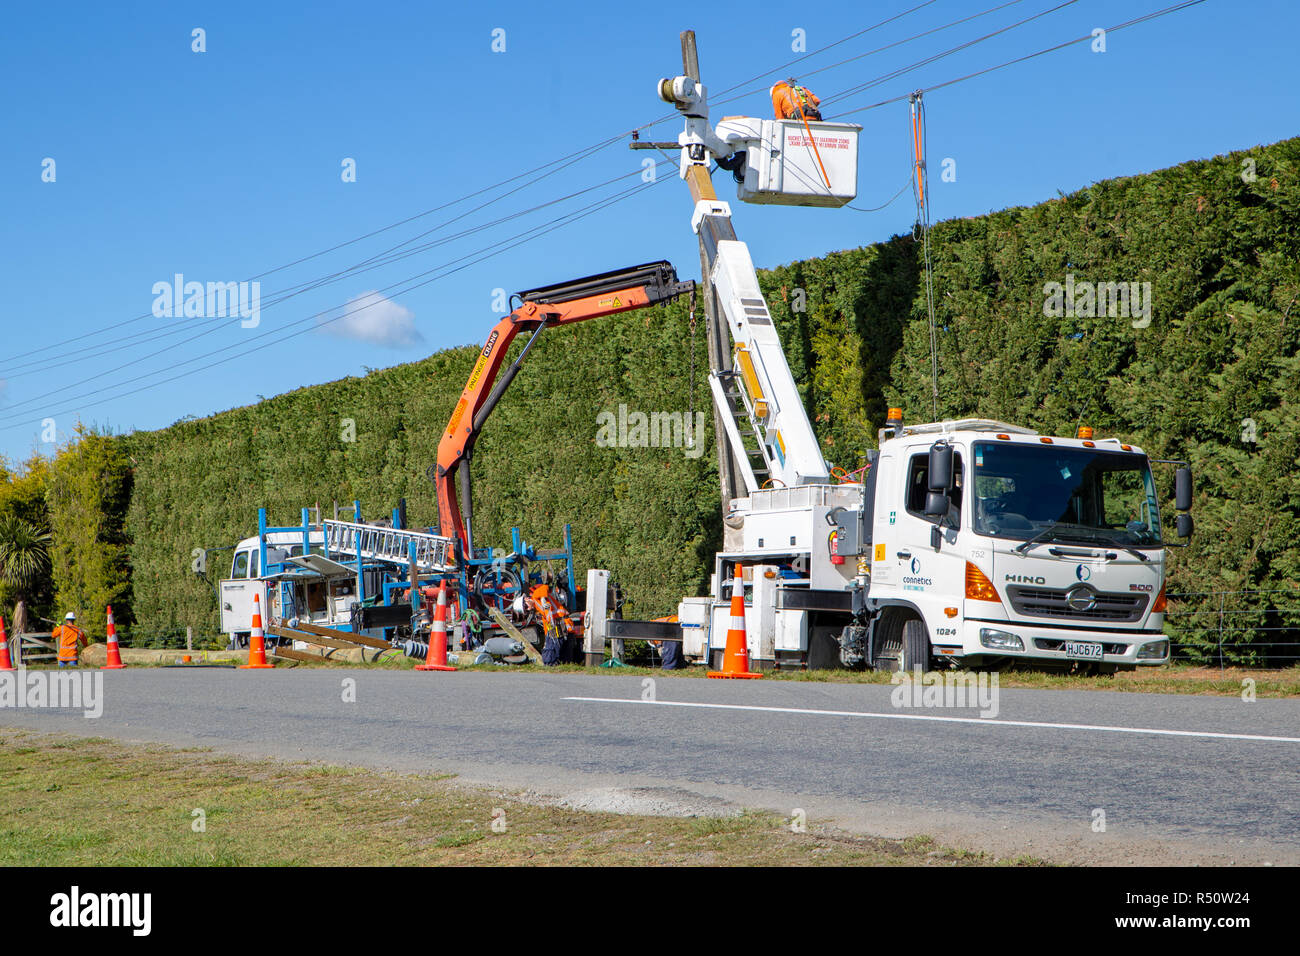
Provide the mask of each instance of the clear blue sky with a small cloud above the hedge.
[{"label": "clear blue sky with a small cloud above the hedge", "polygon": [[[809,75],[998,3],[933,0],[784,66],[800,56],[794,30],[812,52],[919,3],[701,4],[689,13],[516,0],[13,5],[0,34],[0,454],[49,451],[47,419],[60,441],[78,419],[159,428],[478,343],[495,321],[497,289],[653,259],[693,277],[689,195],[668,166],[645,191],[507,246],[641,183],[641,160],[656,153],[628,151],[627,135],[581,151],[671,112],[654,86],[680,72],[682,29],[698,34],[715,99],[772,69],[829,98],[1061,0],[1010,3]],[[835,101],[827,118],[1171,3],[1076,0]],[[1295,135],[1296,9],[1206,0],[1108,35],[1104,53],[1078,44],[936,90],[926,98],[933,219]],[[195,29],[204,52],[192,49]],[[493,49],[498,29],[504,52]],[[768,116],[772,78],[741,86],[755,92],[715,107],[714,118]],[[855,204],[879,206],[907,181],[907,105],[845,118],[864,127]],[[679,129],[672,118],[642,135],[675,139]],[[350,242],[569,153],[576,161],[542,169],[540,181],[534,173]],[[946,157],[956,182],[937,177]],[[53,182],[43,181],[47,160]],[[343,181],[344,160],[355,161],[355,182]],[[733,199],[725,173],[715,183]],[[580,195],[560,199],[569,194]],[[907,195],[875,213],[736,202],[733,212],[759,267],[888,239],[914,219]],[[443,242],[272,304],[281,290],[408,239],[402,250]],[[348,245],[263,274],[339,243]],[[238,317],[155,317],[155,284],[177,273],[200,282],[261,274],[256,328]],[[313,317],[344,311],[328,326]]]}]

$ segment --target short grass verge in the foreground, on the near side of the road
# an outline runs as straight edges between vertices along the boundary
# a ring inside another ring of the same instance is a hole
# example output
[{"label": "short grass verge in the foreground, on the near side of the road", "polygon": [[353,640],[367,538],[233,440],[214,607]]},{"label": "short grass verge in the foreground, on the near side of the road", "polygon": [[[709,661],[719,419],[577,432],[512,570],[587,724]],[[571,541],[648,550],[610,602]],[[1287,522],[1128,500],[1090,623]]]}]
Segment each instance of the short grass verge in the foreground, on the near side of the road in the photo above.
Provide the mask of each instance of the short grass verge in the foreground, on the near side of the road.
[{"label": "short grass verge in the foreground, on the near side of the road", "polygon": [[447,775],[243,760],[14,731],[0,865],[1037,865],[770,813],[638,817],[521,803]]}]

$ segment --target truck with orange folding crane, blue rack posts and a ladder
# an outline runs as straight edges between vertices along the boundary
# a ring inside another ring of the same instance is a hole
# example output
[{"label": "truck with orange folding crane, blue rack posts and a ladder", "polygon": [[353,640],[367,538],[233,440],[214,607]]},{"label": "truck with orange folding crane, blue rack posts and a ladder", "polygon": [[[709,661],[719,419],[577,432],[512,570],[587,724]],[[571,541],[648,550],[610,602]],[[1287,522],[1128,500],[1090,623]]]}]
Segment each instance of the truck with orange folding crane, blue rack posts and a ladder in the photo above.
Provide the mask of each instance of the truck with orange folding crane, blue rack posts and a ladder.
[{"label": "truck with orange folding crane, blue rack posts and a ladder", "polygon": [[[489,333],[429,468],[438,527],[408,529],[404,502],[391,516],[370,522],[363,522],[360,502],[354,502],[351,522],[337,512],[333,520],[312,522],[304,509],[296,527],[273,527],[260,510],[257,535],[235,546],[230,578],[217,585],[221,627],[233,645],[247,641],[254,596],[266,609],[273,635],[307,627],[335,641],[348,635],[415,639],[429,624],[421,598],[428,609],[443,583],[458,623],[465,626],[462,640],[472,646],[502,635],[534,645],[547,632],[560,643],[580,639],[585,594],[576,587],[569,525],[562,548],[533,548],[517,528],[508,549],[474,540],[474,444],[546,329],[670,302],[694,287],[660,260],[516,293],[519,304]],[[506,367],[523,332],[528,341]]]}]

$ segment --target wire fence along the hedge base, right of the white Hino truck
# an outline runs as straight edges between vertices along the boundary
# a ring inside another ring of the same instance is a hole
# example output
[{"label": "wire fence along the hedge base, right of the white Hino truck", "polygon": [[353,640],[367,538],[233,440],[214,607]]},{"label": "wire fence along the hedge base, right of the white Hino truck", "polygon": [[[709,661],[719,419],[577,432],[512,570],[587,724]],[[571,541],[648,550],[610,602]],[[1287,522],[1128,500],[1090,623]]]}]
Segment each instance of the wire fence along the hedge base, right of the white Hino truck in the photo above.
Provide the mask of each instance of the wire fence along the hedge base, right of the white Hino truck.
[{"label": "wire fence along the hedge base, right of the white Hino truck", "polygon": [[1300,588],[1169,594],[1170,659],[1223,667],[1300,662]]}]

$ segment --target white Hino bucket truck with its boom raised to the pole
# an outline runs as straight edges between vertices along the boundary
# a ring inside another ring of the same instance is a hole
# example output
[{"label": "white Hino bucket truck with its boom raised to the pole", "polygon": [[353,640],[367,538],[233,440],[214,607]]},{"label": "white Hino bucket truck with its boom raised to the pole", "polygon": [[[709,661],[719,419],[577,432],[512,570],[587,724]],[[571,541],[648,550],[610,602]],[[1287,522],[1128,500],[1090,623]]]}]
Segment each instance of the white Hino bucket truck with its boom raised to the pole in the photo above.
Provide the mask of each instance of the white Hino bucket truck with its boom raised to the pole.
[{"label": "white Hino bucket truck with its boom raised to the pole", "polygon": [[[689,31],[682,65],[656,87],[685,121],[677,142],[633,146],[680,148],[693,199],[724,542],[711,594],[685,598],[671,624],[603,622],[589,659],[604,636],[662,637],[716,666],[741,566],[759,669],[1024,661],[1113,672],[1167,662],[1165,561],[1176,544],[1140,447],[1087,428],[1057,437],[983,419],[905,424],[893,408],[864,468],[827,463],[710,165],[732,172],[742,202],[837,207],[857,194],[861,127],[802,117],[715,127]],[[1186,538],[1191,472],[1170,464]]]}]

